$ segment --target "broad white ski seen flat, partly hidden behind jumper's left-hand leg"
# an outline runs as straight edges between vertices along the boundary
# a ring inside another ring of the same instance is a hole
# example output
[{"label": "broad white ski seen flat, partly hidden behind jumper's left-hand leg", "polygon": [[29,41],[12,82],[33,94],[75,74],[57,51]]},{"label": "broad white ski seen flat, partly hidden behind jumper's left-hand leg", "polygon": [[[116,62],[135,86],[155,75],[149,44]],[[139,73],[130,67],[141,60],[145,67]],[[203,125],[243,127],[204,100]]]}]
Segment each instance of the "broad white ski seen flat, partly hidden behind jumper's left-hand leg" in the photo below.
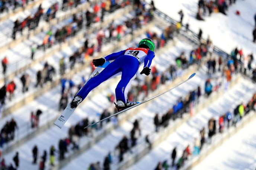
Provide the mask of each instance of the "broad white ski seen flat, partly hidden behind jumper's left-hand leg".
[{"label": "broad white ski seen flat, partly hidden behind jumper's left-hand leg", "polygon": [[[106,66],[109,65],[109,61],[108,62],[105,62],[102,66],[98,66],[95,71],[93,71],[93,73],[90,75],[89,79],[90,78],[93,78],[97,75],[99,75],[100,72],[102,72],[103,69],[106,68]],[[88,79],[88,80],[89,80]],[[87,80],[87,81],[88,81]],[[87,81],[84,83],[84,85],[87,83]],[[84,86],[83,85],[83,86]],[[81,87],[82,89],[83,87]],[[81,90],[80,89],[80,90]],[[77,98],[79,100],[79,98]],[[80,101],[81,102],[81,101]],[[71,103],[71,102],[70,102]],[[58,126],[59,128],[62,128],[65,124],[65,122],[67,122],[68,118],[70,118],[71,114],[73,114],[73,112],[75,111],[76,108],[71,108],[70,107],[70,103],[67,105],[67,107],[64,109],[64,111],[62,112],[62,114],[57,118],[57,120],[54,122],[54,124],[56,126]]]}]

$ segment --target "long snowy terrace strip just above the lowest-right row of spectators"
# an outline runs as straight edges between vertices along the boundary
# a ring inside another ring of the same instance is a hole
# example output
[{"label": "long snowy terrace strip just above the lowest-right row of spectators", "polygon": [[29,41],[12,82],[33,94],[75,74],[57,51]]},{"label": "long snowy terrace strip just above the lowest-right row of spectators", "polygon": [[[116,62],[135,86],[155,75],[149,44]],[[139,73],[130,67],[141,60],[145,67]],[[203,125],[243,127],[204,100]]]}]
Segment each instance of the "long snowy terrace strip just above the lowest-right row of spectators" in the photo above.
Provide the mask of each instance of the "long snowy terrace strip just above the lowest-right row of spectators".
[{"label": "long snowy terrace strip just above the lowest-right row of spectators", "polygon": [[[166,141],[151,150],[147,156],[138,161],[130,170],[153,169],[159,161],[163,162],[164,160],[167,160],[170,164],[170,154],[174,147],[177,148],[177,158],[179,158],[186,146],[193,144],[195,138],[199,137],[199,131],[202,127],[207,126],[210,118],[219,117],[230,108],[236,107],[237,104],[248,101],[254,92],[254,85],[250,81],[243,80],[243,82],[237,84],[234,88],[229,89],[223,97],[213,102],[209,107],[203,109],[179,127],[175,133],[170,134]],[[212,160],[215,160],[215,158],[209,159],[209,162],[212,162],[213,165],[214,161]]]}]

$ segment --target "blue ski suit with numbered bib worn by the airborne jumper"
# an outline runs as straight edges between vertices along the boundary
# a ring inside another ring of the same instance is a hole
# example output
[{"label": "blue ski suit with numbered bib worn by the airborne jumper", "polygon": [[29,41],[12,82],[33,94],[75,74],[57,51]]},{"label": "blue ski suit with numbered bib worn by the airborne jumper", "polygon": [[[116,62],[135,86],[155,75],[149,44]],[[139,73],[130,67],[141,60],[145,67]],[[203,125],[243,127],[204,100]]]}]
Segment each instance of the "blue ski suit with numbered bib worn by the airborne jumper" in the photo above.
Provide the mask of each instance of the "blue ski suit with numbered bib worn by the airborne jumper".
[{"label": "blue ski suit with numbered bib worn by the airborne jumper", "polygon": [[99,75],[89,79],[76,96],[80,96],[84,100],[89,92],[102,82],[121,73],[121,80],[115,89],[116,101],[121,100],[126,103],[131,81],[135,79],[141,63],[144,62],[144,68],[149,68],[154,56],[153,51],[145,48],[128,48],[106,56],[106,61],[114,61],[106,66]]}]

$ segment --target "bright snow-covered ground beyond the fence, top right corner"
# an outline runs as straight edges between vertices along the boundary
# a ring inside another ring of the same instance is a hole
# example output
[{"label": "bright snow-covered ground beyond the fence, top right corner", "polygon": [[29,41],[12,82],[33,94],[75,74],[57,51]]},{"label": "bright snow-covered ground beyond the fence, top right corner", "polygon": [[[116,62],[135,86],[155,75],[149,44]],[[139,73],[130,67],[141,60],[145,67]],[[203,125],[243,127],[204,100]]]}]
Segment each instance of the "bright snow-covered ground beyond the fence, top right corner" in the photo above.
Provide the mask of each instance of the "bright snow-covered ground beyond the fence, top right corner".
[{"label": "bright snow-covered ground beyond the fence, top right corner", "polygon": [[[150,2],[150,0],[147,0]],[[177,21],[180,20],[179,10],[183,10],[183,23],[189,23],[189,27],[196,33],[199,28],[203,30],[202,36],[209,35],[214,45],[231,53],[236,47],[243,49],[244,54],[253,52],[256,56],[256,43],[253,43],[252,31],[255,26],[254,16],[256,14],[255,0],[237,0],[228,8],[227,16],[221,13],[212,13],[205,16],[205,21],[196,20],[198,12],[198,0],[166,1],[155,0],[155,6],[161,12],[166,13]],[[240,11],[240,16],[235,14]]]}]

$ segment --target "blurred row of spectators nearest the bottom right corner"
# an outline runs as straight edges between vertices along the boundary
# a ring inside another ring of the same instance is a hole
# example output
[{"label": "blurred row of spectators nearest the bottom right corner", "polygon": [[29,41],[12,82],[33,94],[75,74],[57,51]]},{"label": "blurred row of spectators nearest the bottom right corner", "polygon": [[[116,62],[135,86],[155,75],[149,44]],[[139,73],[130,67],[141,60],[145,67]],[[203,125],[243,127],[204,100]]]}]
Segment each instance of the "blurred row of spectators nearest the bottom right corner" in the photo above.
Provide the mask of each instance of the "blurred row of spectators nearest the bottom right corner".
[{"label": "blurred row of spectators nearest the bottom right corner", "polygon": [[[166,170],[170,167],[180,169],[186,163],[186,160],[192,159],[200,155],[201,150],[206,149],[204,145],[211,146],[212,140],[216,135],[222,135],[231,126],[236,126],[237,123],[250,111],[255,111],[256,94],[253,94],[252,98],[247,104],[242,103],[237,105],[233,112],[230,109],[224,114],[220,114],[218,118],[211,118],[208,124],[199,131],[199,137],[196,137],[193,144],[188,144],[180,157],[177,156],[177,147],[173,148],[170,156],[170,160],[164,160],[157,163],[155,170]],[[191,147],[193,146],[193,147]]]}]

